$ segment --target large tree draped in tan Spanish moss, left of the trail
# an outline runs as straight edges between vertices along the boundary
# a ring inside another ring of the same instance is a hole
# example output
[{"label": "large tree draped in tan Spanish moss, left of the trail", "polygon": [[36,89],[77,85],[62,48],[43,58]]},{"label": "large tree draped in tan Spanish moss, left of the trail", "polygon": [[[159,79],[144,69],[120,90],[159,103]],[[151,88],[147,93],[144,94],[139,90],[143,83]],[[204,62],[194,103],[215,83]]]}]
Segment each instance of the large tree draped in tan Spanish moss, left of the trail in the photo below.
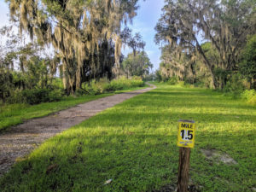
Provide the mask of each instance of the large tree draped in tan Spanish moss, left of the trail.
[{"label": "large tree draped in tan Spanish moss, left of the trail", "polygon": [[8,0],[20,32],[53,44],[68,93],[82,82],[118,73],[121,24],[136,15],[137,0]]}]

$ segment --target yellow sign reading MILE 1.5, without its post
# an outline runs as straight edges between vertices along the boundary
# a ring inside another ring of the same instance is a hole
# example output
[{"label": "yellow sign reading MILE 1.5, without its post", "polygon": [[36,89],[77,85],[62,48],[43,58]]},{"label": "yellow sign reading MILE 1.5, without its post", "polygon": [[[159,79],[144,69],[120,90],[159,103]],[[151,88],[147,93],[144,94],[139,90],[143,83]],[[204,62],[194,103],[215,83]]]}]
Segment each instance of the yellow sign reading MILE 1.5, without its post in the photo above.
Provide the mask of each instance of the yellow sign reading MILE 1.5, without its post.
[{"label": "yellow sign reading MILE 1.5, without its post", "polygon": [[195,121],[193,120],[178,121],[177,146],[182,148],[194,148]]}]

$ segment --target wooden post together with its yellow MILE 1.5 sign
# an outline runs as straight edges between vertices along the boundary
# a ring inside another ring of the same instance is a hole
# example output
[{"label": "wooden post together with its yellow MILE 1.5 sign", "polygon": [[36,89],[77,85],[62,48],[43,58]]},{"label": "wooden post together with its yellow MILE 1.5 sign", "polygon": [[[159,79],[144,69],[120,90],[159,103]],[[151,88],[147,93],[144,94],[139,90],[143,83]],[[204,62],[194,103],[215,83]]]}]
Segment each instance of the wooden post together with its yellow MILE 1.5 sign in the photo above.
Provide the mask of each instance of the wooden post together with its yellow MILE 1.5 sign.
[{"label": "wooden post together with its yellow MILE 1.5 sign", "polygon": [[177,146],[180,147],[177,192],[187,192],[189,184],[190,148],[194,148],[195,146],[195,121],[178,121]]}]

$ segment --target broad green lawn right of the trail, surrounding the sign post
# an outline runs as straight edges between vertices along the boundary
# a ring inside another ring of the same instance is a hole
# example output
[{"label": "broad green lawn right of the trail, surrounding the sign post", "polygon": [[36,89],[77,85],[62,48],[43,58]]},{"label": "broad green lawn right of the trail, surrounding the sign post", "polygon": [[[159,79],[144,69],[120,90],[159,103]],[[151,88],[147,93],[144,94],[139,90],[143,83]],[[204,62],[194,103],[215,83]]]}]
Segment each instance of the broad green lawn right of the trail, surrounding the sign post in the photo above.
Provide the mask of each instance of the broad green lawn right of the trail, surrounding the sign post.
[{"label": "broad green lawn right of the trail, surrounding the sign post", "polygon": [[[255,109],[211,90],[159,85],[50,138],[0,178],[0,191],[150,191],[175,184],[178,119],[197,124],[190,160],[195,186],[251,191]],[[201,149],[237,164],[207,159]]]}]

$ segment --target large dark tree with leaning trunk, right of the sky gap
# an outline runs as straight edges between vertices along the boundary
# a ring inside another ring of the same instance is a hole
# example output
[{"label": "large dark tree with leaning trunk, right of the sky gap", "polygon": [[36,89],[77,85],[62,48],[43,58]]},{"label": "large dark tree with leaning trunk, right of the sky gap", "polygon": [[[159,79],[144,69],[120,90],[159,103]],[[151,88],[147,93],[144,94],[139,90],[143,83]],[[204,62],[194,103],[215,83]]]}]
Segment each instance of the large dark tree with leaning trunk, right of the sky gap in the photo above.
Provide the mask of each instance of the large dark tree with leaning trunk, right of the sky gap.
[{"label": "large dark tree with leaning trunk, right of the sky gap", "polygon": [[[186,53],[201,61],[212,79],[213,88],[222,86],[216,77],[237,70],[241,50],[248,35],[256,29],[256,1],[248,0],[166,0],[163,14],[155,26],[157,44],[169,44],[172,55]],[[218,64],[212,64],[201,40],[210,42]]]}]

